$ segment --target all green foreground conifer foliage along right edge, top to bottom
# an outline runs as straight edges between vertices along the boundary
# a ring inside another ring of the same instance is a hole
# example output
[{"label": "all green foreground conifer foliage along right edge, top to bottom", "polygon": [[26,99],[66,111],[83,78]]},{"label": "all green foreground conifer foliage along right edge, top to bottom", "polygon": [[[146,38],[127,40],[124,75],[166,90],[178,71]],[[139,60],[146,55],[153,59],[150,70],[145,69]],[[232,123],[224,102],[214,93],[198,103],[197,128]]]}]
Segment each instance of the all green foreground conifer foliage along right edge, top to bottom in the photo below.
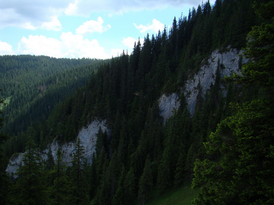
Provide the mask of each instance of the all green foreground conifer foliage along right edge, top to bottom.
[{"label": "all green foreground conifer foliage along right edge, top to bottom", "polygon": [[192,186],[202,187],[195,204],[273,203],[273,6],[255,4],[265,22],[249,33],[245,54],[251,61],[233,78],[257,92],[247,102],[231,104],[235,114],[205,143],[209,155],[221,157],[195,162]]}]

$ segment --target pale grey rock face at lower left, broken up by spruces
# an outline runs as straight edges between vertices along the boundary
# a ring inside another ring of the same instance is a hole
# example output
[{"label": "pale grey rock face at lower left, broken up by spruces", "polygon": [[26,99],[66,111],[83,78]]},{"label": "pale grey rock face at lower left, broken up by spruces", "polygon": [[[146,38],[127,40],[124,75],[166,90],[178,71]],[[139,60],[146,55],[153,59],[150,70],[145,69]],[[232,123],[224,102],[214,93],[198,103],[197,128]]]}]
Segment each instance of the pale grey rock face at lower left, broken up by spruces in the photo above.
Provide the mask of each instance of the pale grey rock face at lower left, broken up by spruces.
[{"label": "pale grey rock face at lower left, broken up by spruces", "polygon": [[[96,134],[98,133],[100,127],[102,128],[102,131],[106,131],[107,134],[110,134],[110,130],[106,126],[106,120],[99,121],[95,120],[87,128],[82,128],[79,133],[78,137],[81,140],[81,145],[84,146],[84,156],[87,159],[87,163],[92,162],[92,155],[93,152],[95,152],[95,145],[97,141]],[[57,159],[57,149],[59,145],[56,140],[54,140],[47,149],[43,150],[40,153],[40,156],[42,157],[42,160],[46,161],[48,158],[48,152],[51,151],[51,154],[53,156],[54,161]],[[64,145],[61,145],[61,150],[64,153],[64,159],[63,161],[67,163],[68,166],[71,166],[71,161],[73,158],[73,153],[76,151],[76,142],[69,142]],[[6,169],[6,172],[9,174],[16,173],[16,170],[19,168],[19,166],[23,165],[23,155],[24,153],[19,153],[9,160],[9,165]]]}]

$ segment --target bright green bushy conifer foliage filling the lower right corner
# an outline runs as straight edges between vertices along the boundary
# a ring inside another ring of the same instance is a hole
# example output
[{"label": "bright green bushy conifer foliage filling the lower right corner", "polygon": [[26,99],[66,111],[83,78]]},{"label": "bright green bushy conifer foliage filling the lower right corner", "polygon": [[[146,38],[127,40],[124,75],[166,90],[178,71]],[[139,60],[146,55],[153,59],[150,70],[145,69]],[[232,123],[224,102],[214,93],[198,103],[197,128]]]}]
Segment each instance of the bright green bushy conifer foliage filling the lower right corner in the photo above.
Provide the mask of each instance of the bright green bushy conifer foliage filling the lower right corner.
[{"label": "bright green bushy conifer foliage filling the lower right corner", "polygon": [[272,203],[272,103],[258,99],[236,109],[205,143],[208,154],[222,155],[220,161],[195,162],[192,186],[204,186],[195,204]]}]

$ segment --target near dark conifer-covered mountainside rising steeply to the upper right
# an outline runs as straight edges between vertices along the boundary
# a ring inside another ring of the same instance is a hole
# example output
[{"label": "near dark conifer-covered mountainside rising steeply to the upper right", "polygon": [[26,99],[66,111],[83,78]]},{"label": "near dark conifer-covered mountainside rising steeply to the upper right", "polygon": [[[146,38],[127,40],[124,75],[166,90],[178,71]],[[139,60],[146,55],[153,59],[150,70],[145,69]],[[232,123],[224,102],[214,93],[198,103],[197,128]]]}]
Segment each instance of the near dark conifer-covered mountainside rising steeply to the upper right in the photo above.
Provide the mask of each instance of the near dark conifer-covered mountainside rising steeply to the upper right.
[{"label": "near dark conifer-covered mountainside rising steeply to the upper right", "polygon": [[[131,55],[101,63],[29,137],[9,200],[144,204],[151,190],[162,193],[195,177],[193,186],[202,187],[196,204],[271,203],[273,2],[260,1],[254,8],[257,16],[251,1],[205,2],[174,18],[170,31],[147,35],[143,46],[136,42]],[[250,63],[237,56],[246,45],[243,57]],[[227,53],[235,55],[227,63],[214,58]],[[247,63],[242,76],[221,78],[241,70],[242,63]],[[208,72],[213,80],[205,86],[202,76]],[[195,86],[187,90],[191,82]],[[192,93],[197,94],[195,108],[188,110]],[[180,102],[165,122],[159,109],[163,96]],[[85,147],[80,133],[92,130],[89,125],[95,127],[96,121],[104,126],[93,135],[95,152],[88,164],[84,152],[94,144]],[[52,142],[45,168],[37,152],[28,153]],[[74,150],[72,166],[66,167],[69,143]],[[30,162],[36,177],[26,187]],[[43,186],[26,197],[37,184]]]}]

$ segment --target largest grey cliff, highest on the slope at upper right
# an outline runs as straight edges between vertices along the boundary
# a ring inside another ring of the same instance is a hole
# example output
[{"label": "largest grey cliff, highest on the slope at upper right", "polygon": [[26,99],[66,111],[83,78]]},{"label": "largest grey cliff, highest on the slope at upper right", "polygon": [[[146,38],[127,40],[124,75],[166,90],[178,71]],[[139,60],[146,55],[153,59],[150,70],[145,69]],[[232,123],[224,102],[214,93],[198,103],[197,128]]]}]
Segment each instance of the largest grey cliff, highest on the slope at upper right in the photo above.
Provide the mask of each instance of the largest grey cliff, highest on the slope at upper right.
[{"label": "largest grey cliff, highest on the slope at upper right", "polygon": [[[182,93],[185,96],[185,101],[188,104],[188,110],[193,115],[197,101],[198,88],[201,89],[201,94],[204,96],[206,91],[210,89],[211,84],[215,84],[216,70],[220,68],[221,78],[231,76],[234,72],[239,74],[240,66],[248,62],[248,59],[242,59],[239,54],[242,51],[229,49],[227,52],[214,51],[208,59],[208,63],[201,67],[200,71],[192,78],[186,81]],[[218,63],[219,61],[219,63]],[[223,86],[220,86],[223,89]],[[226,93],[223,93],[224,96]]]}]

